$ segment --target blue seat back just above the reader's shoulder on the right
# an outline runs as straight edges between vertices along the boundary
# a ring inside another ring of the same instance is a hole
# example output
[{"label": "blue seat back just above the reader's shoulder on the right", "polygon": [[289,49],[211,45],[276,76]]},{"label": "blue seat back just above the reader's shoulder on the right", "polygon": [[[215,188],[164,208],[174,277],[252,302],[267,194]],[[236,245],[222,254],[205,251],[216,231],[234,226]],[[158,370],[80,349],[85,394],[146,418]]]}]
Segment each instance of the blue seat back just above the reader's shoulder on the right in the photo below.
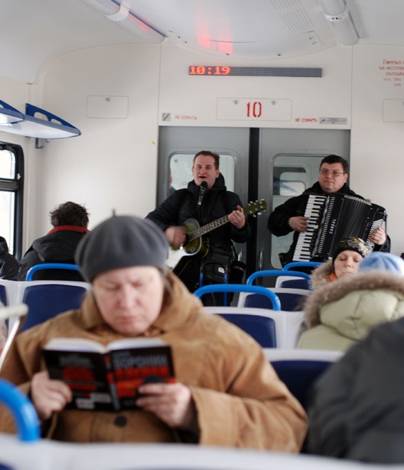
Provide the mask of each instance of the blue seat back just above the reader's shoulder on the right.
[{"label": "blue seat back just above the reader's shoulder on the right", "polygon": [[272,318],[248,314],[218,314],[256,340],[262,347],[276,347],[276,329]]}]

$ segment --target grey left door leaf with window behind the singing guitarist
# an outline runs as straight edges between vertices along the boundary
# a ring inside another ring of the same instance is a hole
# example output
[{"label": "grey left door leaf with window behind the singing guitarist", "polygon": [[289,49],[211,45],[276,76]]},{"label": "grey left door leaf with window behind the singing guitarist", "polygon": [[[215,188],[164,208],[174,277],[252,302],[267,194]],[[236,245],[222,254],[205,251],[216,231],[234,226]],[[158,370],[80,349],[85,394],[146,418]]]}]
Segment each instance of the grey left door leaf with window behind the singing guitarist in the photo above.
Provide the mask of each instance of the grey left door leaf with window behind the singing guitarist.
[{"label": "grey left door leaf with window behind the singing guitarist", "polygon": [[[233,127],[160,127],[157,203],[172,190],[187,187],[192,180],[192,161],[200,150],[220,155],[219,170],[229,191],[239,194],[243,204],[248,196],[249,132]],[[245,261],[245,244],[236,244],[239,259]]]}]

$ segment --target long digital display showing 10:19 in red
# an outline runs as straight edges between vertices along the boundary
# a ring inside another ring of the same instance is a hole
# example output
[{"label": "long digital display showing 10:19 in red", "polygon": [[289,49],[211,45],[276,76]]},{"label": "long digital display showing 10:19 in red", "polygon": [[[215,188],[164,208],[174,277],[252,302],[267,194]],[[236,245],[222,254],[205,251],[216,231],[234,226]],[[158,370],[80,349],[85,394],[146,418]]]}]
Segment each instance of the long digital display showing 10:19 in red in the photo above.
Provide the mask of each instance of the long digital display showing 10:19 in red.
[{"label": "long digital display showing 10:19 in red", "polygon": [[307,67],[230,67],[229,65],[190,65],[188,75],[204,76],[310,76],[320,77],[323,69]]}]

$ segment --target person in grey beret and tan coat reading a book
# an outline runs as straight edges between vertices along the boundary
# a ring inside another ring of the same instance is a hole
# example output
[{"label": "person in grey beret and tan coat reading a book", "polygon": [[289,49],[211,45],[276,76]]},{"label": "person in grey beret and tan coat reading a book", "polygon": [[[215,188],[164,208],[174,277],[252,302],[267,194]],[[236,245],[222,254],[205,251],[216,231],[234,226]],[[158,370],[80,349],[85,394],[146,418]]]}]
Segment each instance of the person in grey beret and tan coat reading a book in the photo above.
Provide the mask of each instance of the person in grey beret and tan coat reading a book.
[{"label": "person in grey beret and tan coat reading a book", "polygon": [[[86,234],[76,261],[92,292],[81,308],[17,335],[0,376],[29,394],[43,435],[73,442],[195,442],[299,451],[306,416],[261,347],[165,269],[168,242],[159,227],[113,216]],[[108,345],[159,338],[170,345],[176,381],[145,383],[133,409],[70,409],[72,391],[50,379],[42,349],[54,338]],[[0,411],[0,431],[12,419]]]}]

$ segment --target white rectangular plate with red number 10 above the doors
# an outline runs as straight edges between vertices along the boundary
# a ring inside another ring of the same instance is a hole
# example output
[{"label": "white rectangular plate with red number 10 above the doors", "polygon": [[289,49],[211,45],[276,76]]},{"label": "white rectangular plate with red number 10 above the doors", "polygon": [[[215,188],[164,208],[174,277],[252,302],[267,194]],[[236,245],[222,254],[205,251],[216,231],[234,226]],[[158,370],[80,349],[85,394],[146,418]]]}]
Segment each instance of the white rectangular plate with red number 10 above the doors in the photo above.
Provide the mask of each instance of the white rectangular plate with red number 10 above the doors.
[{"label": "white rectangular plate with red number 10 above the doors", "polygon": [[278,98],[218,98],[217,119],[230,121],[290,121],[292,100]]}]

